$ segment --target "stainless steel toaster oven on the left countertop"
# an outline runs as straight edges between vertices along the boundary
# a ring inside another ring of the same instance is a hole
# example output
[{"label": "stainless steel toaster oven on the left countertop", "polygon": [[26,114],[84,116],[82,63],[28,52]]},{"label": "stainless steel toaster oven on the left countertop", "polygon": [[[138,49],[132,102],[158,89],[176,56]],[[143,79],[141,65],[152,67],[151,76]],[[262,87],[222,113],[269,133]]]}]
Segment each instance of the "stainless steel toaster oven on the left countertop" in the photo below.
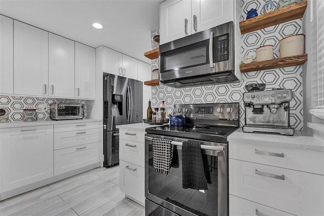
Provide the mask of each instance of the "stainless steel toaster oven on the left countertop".
[{"label": "stainless steel toaster oven on the left countertop", "polygon": [[85,107],[82,103],[51,103],[50,118],[53,120],[83,119]]}]

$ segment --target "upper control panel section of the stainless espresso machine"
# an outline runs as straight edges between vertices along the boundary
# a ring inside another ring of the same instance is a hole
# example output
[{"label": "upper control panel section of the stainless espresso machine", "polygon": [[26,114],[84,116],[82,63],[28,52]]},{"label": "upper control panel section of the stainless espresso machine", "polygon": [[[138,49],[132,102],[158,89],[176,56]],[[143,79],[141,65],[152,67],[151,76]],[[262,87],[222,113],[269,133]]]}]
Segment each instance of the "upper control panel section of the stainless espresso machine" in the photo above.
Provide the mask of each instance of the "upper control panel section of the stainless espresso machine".
[{"label": "upper control panel section of the stainless espresso machine", "polygon": [[244,102],[251,104],[280,104],[289,102],[294,95],[291,89],[245,92]]}]

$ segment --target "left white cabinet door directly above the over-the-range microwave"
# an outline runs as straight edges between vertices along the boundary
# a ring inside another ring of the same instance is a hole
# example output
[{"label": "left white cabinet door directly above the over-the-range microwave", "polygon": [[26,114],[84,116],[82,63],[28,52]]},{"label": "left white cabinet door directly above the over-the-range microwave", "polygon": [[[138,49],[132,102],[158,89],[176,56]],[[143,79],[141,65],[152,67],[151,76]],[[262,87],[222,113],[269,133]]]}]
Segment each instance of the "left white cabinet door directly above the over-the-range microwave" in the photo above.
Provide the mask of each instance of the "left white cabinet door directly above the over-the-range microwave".
[{"label": "left white cabinet door directly above the over-the-range microwave", "polygon": [[160,44],[191,34],[191,1],[167,0],[160,4]]}]

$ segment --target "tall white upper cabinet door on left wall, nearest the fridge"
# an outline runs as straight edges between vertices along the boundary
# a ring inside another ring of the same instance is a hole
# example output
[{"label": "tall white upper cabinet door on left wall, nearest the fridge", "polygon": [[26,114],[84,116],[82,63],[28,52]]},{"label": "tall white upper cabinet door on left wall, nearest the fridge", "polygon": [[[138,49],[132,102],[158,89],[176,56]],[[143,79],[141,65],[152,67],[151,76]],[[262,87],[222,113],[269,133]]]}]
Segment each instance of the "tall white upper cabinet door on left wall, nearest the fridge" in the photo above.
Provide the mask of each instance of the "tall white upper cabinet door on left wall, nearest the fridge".
[{"label": "tall white upper cabinet door on left wall, nearest the fridge", "polygon": [[75,42],[75,97],[96,99],[96,50]]}]

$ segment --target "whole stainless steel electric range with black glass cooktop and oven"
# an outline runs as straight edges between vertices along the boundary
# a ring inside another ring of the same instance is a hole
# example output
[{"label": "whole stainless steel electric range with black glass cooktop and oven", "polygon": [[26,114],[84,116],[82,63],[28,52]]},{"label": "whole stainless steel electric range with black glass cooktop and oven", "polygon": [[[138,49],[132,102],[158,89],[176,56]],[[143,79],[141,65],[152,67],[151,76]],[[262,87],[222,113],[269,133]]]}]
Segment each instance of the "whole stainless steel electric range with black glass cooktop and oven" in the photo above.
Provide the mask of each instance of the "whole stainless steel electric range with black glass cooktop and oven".
[{"label": "whole stainless steel electric range with black glass cooktop and oven", "polygon": [[[163,125],[146,129],[145,215],[228,215],[227,136],[239,127],[238,103],[177,104],[186,117],[185,126]],[[153,138],[171,139],[177,166],[169,174],[154,171]],[[185,141],[200,143],[208,190],[183,188]]]}]

